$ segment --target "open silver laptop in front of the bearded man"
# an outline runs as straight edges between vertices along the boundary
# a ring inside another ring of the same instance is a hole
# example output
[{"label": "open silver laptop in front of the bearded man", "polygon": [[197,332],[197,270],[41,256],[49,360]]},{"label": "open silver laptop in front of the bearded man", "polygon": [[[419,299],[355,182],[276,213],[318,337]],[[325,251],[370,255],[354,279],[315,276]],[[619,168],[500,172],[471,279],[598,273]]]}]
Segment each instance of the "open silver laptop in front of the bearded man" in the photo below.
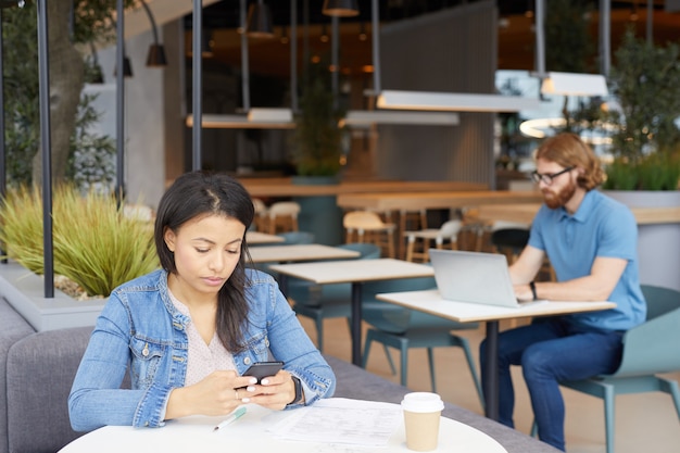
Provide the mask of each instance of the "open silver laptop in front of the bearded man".
[{"label": "open silver laptop in front of the bearded man", "polygon": [[443,299],[507,307],[544,302],[517,300],[503,254],[439,249],[429,253]]}]

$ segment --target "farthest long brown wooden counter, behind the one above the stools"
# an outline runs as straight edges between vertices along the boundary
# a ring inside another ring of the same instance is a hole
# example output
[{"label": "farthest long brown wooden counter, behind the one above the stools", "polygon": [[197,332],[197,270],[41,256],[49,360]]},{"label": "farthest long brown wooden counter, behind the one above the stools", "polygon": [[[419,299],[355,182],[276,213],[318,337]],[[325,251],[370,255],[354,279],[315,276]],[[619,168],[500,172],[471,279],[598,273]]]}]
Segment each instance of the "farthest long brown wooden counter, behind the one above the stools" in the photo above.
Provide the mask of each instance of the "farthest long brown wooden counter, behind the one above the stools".
[{"label": "farthest long brown wooden counter, behind the one above the stools", "polygon": [[487,186],[459,181],[342,181],[337,185],[295,185],[291,178],[241,178],[251,197],[315,197],[343,193],[429,192],[486,190]]}]

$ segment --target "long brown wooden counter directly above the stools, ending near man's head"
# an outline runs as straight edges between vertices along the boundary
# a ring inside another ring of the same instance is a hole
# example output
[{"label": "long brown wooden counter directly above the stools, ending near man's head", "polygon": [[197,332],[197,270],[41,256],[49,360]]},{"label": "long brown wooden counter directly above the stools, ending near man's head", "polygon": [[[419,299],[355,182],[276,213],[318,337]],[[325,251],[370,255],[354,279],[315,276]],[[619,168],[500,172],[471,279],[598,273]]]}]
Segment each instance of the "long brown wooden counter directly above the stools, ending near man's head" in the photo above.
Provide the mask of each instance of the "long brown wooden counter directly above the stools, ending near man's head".
[{"label": "long brown wooden counter directly above the stools, ending near man's head", "polygon": [[383,193],[347,193],[338,196],[338,205],[343,209],[377,211],[417,211],[499,203],[536,203],[542,201],[540,192],[470,190]]}]

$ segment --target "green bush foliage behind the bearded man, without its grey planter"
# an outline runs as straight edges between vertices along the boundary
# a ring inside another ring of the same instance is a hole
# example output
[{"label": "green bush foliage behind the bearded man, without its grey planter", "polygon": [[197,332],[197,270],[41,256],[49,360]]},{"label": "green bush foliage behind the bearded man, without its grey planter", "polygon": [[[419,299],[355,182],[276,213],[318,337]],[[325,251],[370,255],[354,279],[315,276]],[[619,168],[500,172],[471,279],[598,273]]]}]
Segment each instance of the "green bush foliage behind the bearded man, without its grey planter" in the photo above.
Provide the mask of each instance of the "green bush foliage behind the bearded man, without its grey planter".
[{"label": "green bush foliage behind the bearded man, without its grey planter", "polygon": [[619,109],[605,189],[676,190],[680,180],[680,47],[655,46],[631,29],[615,52],[610,91]]}]

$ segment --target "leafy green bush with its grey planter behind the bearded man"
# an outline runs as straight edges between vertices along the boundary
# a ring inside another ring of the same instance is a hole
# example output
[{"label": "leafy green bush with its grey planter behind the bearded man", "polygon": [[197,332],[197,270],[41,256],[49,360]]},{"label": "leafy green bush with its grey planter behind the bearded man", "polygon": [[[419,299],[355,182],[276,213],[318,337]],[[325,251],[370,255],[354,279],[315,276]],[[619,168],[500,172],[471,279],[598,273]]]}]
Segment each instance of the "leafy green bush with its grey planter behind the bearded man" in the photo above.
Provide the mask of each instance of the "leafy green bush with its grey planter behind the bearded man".
[{"label": "leafy green bush with its grey planter behind the bearded man", "polygon": [[[630,29],[615,52],[609,88],[619,108],[605,114],[613,161],[603,189],[633,209],[668,213],[680,206],[679,56],[678,45],[655,46]],[[680,223],[656,215],[639,222],[640,279],[680,289]]]}]

